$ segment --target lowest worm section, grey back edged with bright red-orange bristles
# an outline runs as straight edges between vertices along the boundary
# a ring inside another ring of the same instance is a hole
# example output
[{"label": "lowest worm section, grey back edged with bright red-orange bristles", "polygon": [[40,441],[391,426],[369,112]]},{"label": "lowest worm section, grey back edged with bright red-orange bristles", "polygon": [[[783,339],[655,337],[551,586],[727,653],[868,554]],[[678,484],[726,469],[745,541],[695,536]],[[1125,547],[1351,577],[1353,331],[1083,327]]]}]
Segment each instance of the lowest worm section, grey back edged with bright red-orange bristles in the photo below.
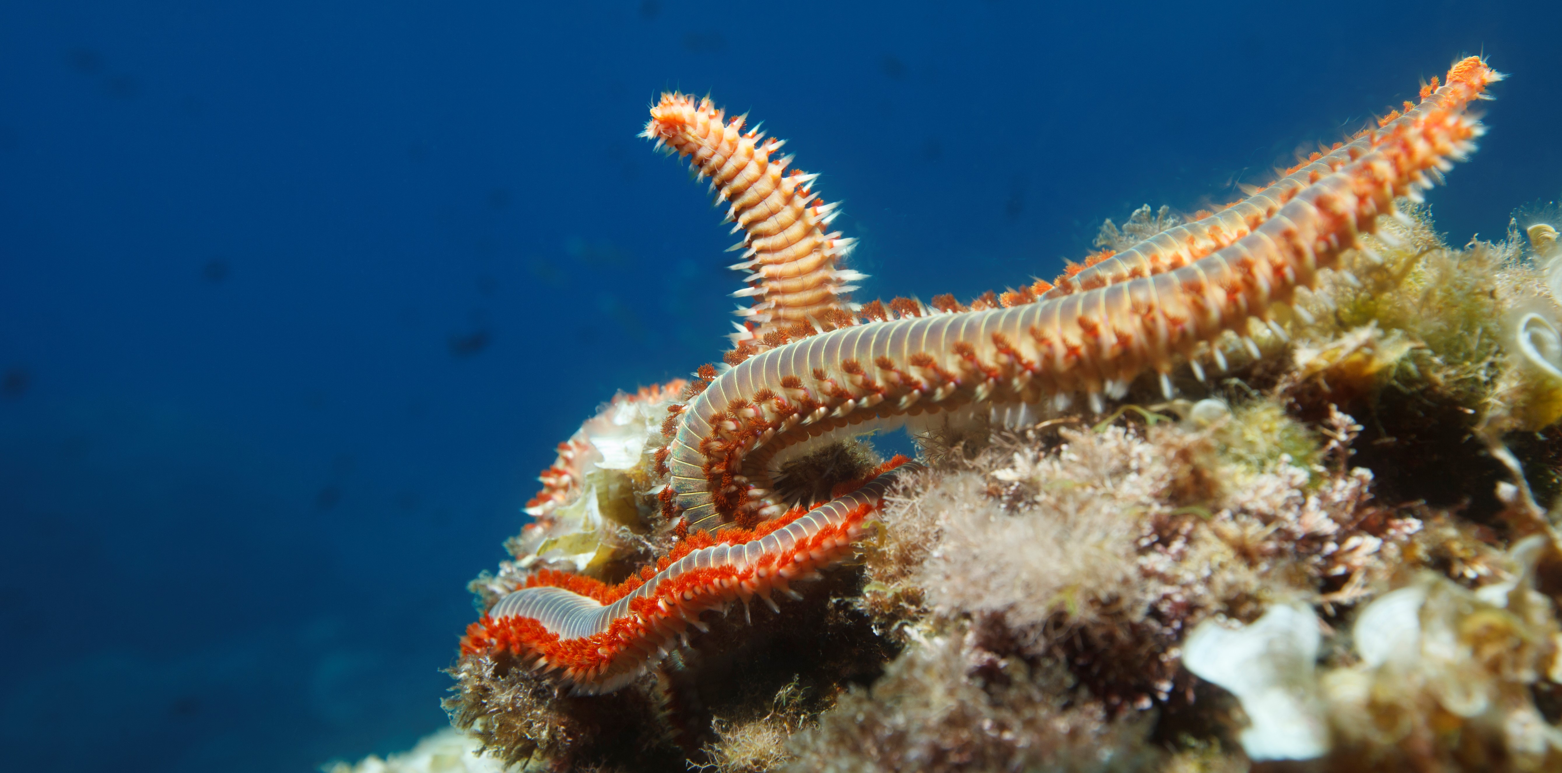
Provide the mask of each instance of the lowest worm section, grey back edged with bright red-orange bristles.
[{"label": "lowest worm section, grey back edged with bright red-orange bristles", "polygon": [[[661,661],[700,612],[770,593],[851,554],[862,522],[915,464],[889,470],[762,536],[692,550],[644,582],[581,587],[575,575],[534,575],[534,587],[501,598],[467,628],[462,653],[511,650],[539,670],[561,670],[580,693],[612,692]],[[570,582],[573,579],[575,582]],[[542,582],[575,587],[550,587]],[[587,590],[589,593],[581,593]]]}]

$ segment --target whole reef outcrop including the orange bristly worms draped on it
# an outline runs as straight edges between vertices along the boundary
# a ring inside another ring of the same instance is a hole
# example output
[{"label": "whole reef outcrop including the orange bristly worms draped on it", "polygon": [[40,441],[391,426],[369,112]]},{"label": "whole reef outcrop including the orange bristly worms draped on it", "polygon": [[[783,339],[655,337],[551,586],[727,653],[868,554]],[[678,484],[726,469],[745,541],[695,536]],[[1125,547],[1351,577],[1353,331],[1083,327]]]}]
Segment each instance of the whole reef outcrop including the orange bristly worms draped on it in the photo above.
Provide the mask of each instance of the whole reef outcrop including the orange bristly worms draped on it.
[{"label": "whole reef outcrop including the orange bristly worms draped on it", "polygon": [[1420,203],[1498,80],[928,305],[853,303],[778,142],[664,98],[770,305],[561,447],[453,723],[525,770],[1562,768],[1562,223]]}]

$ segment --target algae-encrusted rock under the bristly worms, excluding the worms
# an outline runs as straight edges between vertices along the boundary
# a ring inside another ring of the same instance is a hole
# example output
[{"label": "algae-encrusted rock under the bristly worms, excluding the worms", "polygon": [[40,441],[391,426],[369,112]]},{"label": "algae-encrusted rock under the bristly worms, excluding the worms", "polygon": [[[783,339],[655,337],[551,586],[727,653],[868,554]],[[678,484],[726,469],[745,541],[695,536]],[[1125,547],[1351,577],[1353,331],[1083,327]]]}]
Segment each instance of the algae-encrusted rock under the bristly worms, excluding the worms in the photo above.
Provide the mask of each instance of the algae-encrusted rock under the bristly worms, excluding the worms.
[{"label": "algae-encrusted rock under the bristly worms, excluding the worms", "polygon": [[[603,696],[469,656],[453,720],[537,770],[1562,765],[1545,234],[1451,248],[1406,212],[1173,400],[920,437],[859,561],[779,614],[706,615]],[[820,453],[870,459],[850,443]],[[658,539],[647,470],[580,465],[484,582]]]}]

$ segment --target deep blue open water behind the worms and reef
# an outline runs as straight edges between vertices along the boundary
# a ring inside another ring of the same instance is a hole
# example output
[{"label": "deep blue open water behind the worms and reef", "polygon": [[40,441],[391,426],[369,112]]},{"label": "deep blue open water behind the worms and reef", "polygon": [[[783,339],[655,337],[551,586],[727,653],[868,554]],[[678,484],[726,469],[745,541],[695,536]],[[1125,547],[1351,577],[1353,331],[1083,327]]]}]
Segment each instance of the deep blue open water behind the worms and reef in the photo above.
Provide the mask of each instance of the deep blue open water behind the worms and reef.
[{"label": "deep blue open water behind the worms and reef", "polygon": [[1460,53],[1514,77],[1440,228],[1562,194],[1554,3],[1176,5],[0,3],[5,765],[444,723],[553,445],[722,351],[733,237],[636,137],[664,89],[823,172],[864,298],[1051,276]]}]

